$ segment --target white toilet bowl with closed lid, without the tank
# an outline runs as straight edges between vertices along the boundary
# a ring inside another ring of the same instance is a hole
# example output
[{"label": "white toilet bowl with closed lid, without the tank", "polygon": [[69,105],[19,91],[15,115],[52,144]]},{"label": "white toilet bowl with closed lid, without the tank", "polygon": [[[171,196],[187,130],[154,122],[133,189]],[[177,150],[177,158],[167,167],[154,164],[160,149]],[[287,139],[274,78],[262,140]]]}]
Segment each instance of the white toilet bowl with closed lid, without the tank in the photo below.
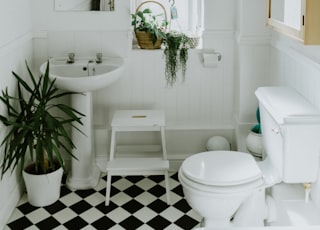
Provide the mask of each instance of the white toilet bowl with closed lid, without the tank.
[{"label": "white toilet bowl with closed lid, without the tank", "polygon": [[236,151],[190,156],[178,175],[185,199],[204,217],[205,227],[232,225],[231,218],[241,203],[264,184],[254,158]]}]

